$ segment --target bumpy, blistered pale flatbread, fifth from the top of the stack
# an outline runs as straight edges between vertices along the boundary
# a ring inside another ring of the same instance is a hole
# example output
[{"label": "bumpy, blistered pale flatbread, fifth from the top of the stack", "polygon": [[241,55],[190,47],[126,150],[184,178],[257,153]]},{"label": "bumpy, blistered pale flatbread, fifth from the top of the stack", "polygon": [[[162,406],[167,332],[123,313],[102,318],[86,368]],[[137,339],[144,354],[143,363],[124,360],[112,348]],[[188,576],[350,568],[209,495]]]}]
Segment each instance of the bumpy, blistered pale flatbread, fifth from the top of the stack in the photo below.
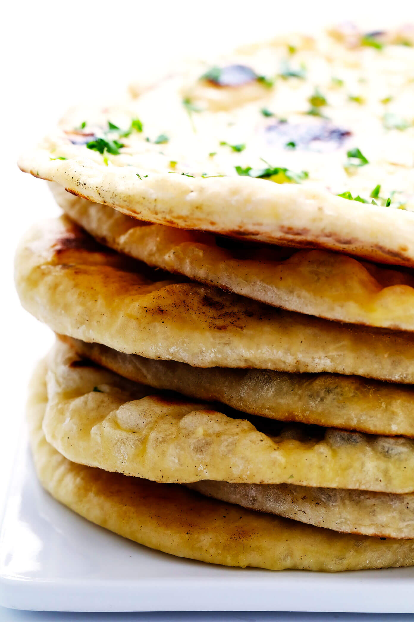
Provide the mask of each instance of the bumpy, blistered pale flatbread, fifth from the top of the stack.
[{"label": "bumpy, blistered pale flatbread, fifth from the top of the stack", "polygon": [[[92,365],[92,366],[91,366]],[[414,491],[414,440],[277,424],[130,383],[58,343],[43,430],[66,458],[166,483]]]}]

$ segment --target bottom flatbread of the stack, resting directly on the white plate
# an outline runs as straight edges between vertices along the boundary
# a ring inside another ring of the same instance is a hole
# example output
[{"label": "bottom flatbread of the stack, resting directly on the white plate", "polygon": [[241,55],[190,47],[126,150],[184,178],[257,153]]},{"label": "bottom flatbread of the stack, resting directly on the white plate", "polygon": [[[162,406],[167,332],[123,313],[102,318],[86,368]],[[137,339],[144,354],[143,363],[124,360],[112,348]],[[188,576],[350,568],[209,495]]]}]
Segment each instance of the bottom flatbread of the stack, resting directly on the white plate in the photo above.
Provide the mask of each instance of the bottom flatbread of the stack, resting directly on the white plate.
[{"label": "bottom flatbread of the stack, resting directly on the white plate", "polygon": [[271,570],[336,572],[414,565],[411,540],[338,534],[66,460],[42,431],[45,364],[30,383],[27,417],[35,469],[61,503],[110,531],[178,557]]}]

